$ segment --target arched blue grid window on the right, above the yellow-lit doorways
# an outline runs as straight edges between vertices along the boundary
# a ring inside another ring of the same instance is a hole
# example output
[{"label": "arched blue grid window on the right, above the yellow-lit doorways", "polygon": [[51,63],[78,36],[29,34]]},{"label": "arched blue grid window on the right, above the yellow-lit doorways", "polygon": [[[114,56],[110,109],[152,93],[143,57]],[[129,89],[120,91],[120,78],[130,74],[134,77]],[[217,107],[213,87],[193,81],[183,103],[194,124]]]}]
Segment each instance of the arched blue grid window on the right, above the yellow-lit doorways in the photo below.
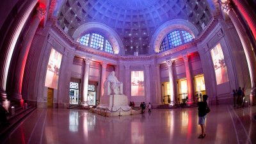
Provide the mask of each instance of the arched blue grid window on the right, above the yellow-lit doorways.
[{"label": "arched blue grid window on the right, above the yellow-lit doorways", "polygon": [[[168,42],[166,41],[168,38]],[[191,42],[194,37],[188,32],[184,30],[175,30],[169,33],[166,37],[164,37],[159,52],[166,51],[168,49],[172,49],[173,47],[177,47],[182,44],[186,44]],[[167,43],[169,44],[167,46]]]}]

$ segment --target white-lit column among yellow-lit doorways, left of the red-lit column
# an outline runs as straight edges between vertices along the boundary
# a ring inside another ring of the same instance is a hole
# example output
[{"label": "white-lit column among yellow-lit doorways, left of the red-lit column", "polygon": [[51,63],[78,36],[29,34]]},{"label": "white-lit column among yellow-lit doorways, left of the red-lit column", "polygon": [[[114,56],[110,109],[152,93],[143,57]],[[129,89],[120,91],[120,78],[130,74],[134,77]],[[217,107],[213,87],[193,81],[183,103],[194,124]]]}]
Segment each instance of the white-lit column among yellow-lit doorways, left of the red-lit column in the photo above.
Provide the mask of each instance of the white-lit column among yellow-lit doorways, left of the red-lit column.
[{"label": "white-lit column among yellow-lit doorways, left of the red-lit column", "polygon": [[175,86],[174,86],[174,74],[173,74],[173,60],[166,60],[169,70],[169,82],[170,82],[170,97],[171,105],[175,104]]}]

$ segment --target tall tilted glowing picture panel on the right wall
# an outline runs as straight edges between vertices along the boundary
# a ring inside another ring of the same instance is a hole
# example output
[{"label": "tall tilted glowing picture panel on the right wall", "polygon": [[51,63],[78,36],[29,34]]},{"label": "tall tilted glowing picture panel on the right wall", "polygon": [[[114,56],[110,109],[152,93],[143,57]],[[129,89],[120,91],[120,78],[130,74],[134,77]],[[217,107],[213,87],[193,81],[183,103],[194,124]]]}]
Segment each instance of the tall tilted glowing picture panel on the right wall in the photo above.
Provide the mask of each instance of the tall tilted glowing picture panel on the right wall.
[{"label": "tall tilted glowing picture panel on the right wall", "polygon": [[218,44],[211,50],[212,61],[214,65],[217,85],[228,82],[227,65],[225,63],[224,55],[221,45]]}]

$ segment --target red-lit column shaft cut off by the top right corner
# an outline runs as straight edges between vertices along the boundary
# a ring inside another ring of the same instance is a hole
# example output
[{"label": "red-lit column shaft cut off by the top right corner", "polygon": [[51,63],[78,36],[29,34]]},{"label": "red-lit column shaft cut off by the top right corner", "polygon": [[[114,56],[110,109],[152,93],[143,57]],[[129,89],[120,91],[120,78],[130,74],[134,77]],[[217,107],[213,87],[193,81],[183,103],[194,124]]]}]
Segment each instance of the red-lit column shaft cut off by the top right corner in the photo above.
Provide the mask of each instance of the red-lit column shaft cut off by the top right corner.
[{"label": "red-lit column shaft cut off by the top right corner", "polygon": [[253,36],[256,40],[256,16],[253,14],[252,9],[244,0],[233,0],[241,13],[244,15],[244,18],[248,22],[248,25],[252,29]]}]

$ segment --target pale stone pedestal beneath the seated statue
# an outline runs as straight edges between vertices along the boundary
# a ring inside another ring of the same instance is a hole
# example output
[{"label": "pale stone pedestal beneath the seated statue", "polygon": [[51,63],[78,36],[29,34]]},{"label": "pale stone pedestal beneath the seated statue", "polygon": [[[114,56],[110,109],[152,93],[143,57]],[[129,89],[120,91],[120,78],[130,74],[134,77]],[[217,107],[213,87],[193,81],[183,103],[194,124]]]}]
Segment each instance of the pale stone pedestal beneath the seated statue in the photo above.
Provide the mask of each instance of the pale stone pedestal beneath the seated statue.
[{"label": "pale stone pedestal beneath the seated statue", "polygon": [[128,106],[128,98],[125,95],[104,95],[100,97],[100,105],[97,108],[108,108],[109,111],[116,111],[119,108],[124,111],[131,109]]}]

